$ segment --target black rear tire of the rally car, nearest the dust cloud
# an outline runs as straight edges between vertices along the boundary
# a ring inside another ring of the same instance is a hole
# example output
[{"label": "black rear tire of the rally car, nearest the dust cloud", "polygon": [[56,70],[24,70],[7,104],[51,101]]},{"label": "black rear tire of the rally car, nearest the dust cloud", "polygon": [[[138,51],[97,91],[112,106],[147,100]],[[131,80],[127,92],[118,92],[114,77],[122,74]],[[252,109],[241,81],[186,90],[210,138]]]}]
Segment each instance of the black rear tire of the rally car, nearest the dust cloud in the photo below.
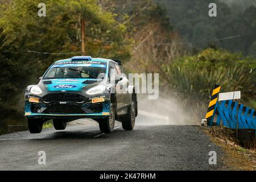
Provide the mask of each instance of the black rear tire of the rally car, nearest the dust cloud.
[{"label": "black rear tire of the rally car, nearest the dust cloud", "polygon": [[128,108],[128,113],[125,117],[122,117],[122,127],[124,130],[133,130],[135,125],[136,118],[136,106],[134,101],[131,102],[131,105]]}]

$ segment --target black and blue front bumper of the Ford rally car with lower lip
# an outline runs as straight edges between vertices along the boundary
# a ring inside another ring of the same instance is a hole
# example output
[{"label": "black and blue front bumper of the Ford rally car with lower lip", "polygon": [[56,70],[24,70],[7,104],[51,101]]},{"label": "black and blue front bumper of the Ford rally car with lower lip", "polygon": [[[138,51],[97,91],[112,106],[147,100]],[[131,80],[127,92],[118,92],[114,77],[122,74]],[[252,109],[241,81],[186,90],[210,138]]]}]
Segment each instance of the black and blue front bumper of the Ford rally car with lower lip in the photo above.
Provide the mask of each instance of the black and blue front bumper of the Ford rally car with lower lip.
[{"label": "black and blue front bumper of the Ford rally car with lower lip", "polygon": [[[60,93],[61,94],[61,93]],[[25,116],[27,118],[45,119],[79,119],[79,118],[106,118],[109,117],[110,100],[105,94],[104,101],[92,103],[92,98],[77,101],[46,101],[44,97],[25,96]],[[31,102],[30,98],[37,98],[38,102]]]}]

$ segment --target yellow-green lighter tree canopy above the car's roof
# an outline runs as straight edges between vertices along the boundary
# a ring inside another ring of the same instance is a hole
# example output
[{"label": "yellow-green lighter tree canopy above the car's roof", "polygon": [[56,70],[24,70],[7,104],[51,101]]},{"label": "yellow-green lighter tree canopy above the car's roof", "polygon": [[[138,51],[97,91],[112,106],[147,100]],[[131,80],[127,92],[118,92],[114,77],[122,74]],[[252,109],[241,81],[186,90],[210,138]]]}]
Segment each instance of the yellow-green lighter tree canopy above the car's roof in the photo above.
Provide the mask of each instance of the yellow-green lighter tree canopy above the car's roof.
[{"label": "yellow-green lighter tree canopy above the car's roof", "polygon": [[[47,1],[46,17],[39,17],[40,1],[12,1],[0,19],[11,39],[23,44],[21,51],[80,52],[81,18],[86,24],[87,55],[93,57],[129,58],[130,40],[124,40],[126,28],[114,15],[103,11],[96,0]],[[80,53],[74,53],[74,56]],[[38,55],[44,69],[53,60],[67,55]]]}]

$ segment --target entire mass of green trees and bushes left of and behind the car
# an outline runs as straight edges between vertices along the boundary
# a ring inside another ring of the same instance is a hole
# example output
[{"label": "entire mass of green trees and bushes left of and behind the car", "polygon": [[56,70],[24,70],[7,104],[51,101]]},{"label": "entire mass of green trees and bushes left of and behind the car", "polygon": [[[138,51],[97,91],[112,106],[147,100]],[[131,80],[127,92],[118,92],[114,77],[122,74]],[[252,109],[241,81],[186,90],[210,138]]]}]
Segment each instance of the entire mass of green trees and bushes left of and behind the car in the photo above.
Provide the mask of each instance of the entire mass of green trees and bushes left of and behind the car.
[{"label": "entire mass of green trees and bushes left of and behind the car", "polygon": [[53,61],[81,55],[82,18],[86,55],[124,61],[130,57],[131,39],[126,38],[126,26],[110,11],[102,10],[96,0],[49,0],[46,17],[38,16],[40,2],[0,2],[0,125],[23,121],[24,89],[37,84]]}]

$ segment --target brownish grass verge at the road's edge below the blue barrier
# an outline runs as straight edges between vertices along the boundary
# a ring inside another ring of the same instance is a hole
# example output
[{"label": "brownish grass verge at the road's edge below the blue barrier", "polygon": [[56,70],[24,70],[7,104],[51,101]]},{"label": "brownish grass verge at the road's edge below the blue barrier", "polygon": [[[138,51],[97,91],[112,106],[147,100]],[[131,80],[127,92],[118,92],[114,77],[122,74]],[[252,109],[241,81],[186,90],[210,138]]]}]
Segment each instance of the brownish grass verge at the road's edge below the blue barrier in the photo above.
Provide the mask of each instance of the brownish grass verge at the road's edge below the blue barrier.
[{"label": "brownish grass verge at the road's edge below the blue barrier", "polygon": [[230,170],[256,170],[256,148],[246,149],[240,146],[236,133],[223,126],[203,127],[213,143],[221,146],[225,152],[222,159],[224,168]]}]

